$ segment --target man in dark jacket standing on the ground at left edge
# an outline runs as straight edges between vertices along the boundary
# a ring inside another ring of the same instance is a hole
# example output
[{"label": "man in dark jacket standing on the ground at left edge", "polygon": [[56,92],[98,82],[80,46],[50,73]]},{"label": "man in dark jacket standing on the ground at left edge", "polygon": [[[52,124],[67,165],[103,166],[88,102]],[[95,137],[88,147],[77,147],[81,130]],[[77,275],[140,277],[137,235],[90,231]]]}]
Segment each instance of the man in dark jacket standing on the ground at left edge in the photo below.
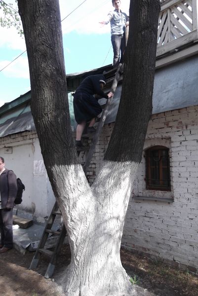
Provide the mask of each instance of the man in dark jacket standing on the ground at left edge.
[{"label": "man in dark jacket standing on the ground at left edge", "polygon": [[13,247],[13,207],[17,194],[16,175],[5,169],[3,157],[0,157],[0,253]]}]

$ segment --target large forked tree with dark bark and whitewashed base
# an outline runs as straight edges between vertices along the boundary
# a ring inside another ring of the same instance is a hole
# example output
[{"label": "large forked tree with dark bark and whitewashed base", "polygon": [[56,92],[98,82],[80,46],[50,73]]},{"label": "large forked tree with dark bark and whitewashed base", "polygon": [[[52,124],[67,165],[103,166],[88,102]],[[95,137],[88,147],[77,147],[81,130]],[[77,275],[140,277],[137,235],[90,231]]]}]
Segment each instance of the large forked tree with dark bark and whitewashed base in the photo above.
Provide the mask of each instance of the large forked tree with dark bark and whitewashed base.
[{"label": "large forked tree with dark bark and whitewashed base", "polygon": [[152,113],[159,0],[131,0],[119,111],[91,187],[72,139],[58,0],[18,0],[18,7],[29,60],[31,109],[72,253],[62,275],[65,295],[133,295],[119,250]]}]

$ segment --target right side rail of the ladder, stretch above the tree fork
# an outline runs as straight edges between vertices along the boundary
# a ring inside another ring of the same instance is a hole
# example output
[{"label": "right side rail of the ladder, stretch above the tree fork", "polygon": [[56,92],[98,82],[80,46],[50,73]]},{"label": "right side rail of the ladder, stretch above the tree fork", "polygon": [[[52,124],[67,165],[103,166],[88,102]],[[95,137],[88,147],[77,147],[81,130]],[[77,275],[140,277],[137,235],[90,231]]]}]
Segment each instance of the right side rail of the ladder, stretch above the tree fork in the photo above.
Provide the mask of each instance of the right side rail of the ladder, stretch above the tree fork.
[{"label": "right side rail of the ladder, stretch above the tree fork", "polygon": [[[121,67],[123,64],[119,64],[118,66],[118,70],[116,72],[116,75],[115,75],[115,78],[114,78],[114,81],[112,83],[112,87],[111,87],[111,91],[113,93],[115,93],[116,91],[116,88],[117,88],[117,85],[118,85],[118,82],[119,82],[119,77],[120,77],[120,71],[121,71]],[[87,157],[86,157],[86,160],[85,160],[85,163],[84,163],[84,166],[83,166],[83,171],[84,173],[86,174],[87,170],[88,170],[88,167],[89,167],[89,164],[91,162],[91,159],[92,159],[92,156],[93,156],[93,153],[95,151],[95,148],[96,148],[96,144],[98,142],[98,139],[100,137],[100,134],[101,134],[101,131],[102,131],[102,127],[105,123],[105,119],[107,117],[107,114],[108,114],[108,110],[109,110],[109,106],[111,105],[111,102],[112,102],[112,98],[109,98],[107,100],[107,103],[106,103],[106,106],[103,110],[103,113],[102,113],[102,116],[100,118],[100,121],[99,121],[99,124],[98,124],[98,127],[96,129],[96,133],[95,133],[95,136],[93,138],[93,141],[92,141],[92,144],[91,144],[91,147],[87,153]]]}]

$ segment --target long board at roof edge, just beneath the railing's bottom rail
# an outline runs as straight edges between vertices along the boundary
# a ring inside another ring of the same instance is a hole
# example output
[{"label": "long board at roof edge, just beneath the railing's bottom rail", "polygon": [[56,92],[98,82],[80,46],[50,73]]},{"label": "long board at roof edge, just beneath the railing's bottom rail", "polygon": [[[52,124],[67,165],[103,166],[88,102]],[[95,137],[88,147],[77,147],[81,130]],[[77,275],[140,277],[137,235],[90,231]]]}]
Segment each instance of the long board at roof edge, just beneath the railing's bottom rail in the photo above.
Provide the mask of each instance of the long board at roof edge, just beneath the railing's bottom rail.
[{"label": "long board at roof edge, just beneath the railing's bottom rail", "polygon": [[198,43],[181,51],[175,52],[170,56],[157,60],[156,69],[168,66],[170,64],[176,63],[180,60],[183,60],[184,58],[188,58],[196,54],[198,54]]}]

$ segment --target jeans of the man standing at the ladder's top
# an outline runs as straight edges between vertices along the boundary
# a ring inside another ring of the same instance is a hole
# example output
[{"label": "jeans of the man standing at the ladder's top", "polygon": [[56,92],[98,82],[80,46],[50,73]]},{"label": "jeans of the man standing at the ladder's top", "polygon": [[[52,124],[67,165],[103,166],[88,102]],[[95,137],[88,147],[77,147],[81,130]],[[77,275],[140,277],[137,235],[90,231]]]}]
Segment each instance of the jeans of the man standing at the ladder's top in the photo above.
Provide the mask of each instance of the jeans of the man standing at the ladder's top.
[{"label": "jeans of the man standing at the ladder's top", "polygon": [[114,50],[114,67],[118,67],[119,63],[123,63],[124,50],[126,49],[126,36],[125,33],[122,35],[112,35],[112,46]]}]

